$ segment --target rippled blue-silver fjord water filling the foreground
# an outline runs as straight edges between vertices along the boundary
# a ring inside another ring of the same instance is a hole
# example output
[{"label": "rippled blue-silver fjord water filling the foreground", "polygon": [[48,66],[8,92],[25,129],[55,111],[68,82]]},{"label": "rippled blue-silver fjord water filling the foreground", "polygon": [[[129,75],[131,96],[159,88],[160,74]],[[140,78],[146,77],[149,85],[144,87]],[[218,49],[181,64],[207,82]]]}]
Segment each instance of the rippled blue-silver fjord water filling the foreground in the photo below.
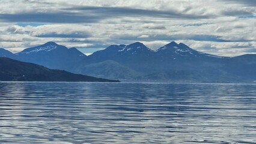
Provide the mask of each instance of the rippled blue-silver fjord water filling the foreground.
[{"label": "rippled blue-silver fjord water filling the foreground", "polygon": [[0,143],[255,143],[256,85],[0,82]]}]

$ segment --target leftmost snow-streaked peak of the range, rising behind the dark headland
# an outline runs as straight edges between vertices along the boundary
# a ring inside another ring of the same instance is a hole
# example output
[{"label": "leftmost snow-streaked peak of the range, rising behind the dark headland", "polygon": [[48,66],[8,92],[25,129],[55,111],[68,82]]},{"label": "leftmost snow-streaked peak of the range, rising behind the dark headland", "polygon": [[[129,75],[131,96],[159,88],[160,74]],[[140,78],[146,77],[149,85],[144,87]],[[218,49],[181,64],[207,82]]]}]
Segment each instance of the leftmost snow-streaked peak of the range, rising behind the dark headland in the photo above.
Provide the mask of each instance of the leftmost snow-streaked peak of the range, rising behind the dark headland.
[{"label": "leftmost snow-streaked peak of the range, rising behind the dark headland", "polygon": [[22,52],[16,54],[11,54],[14,56],[7,57],[59,70],[70,70],[74,64],[82,61],[86,57],[84,53],[81,53],[76,48],[68,49],[52,41],[40,46],[24,49]]}]

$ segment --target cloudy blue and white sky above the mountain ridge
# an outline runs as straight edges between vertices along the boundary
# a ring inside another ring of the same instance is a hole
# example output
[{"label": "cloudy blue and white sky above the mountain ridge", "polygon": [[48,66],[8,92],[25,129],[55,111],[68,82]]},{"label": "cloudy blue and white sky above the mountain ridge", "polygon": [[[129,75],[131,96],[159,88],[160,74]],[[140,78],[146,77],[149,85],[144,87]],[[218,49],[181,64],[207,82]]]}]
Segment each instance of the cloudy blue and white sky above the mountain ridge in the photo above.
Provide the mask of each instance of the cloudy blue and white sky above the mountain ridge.
[{"label": "cloudy blue and white sky above the mountain ridge", "polygon": [[0,47],[55,41],[93,53],[140,41],[176,41],[220,56],[256,53],[255,0],[0,0]]}]

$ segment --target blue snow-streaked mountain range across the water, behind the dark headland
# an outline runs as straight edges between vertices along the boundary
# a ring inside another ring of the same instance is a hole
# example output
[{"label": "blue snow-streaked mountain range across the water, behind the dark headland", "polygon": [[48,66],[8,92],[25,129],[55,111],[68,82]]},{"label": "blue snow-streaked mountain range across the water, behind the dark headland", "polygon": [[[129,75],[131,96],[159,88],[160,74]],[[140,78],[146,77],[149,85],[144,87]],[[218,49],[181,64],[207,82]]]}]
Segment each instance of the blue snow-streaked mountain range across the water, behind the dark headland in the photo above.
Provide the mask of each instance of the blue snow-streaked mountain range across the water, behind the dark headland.
[{"label": "blue snow-streaked mountain range across the water, behind the dark headland", "polygon": [[111,45],[86,56],[54,42],[0,57],[76,74],[128,82],[255,82],[256,55],[210,55],[172,41],[157,50],[142,43]]}]

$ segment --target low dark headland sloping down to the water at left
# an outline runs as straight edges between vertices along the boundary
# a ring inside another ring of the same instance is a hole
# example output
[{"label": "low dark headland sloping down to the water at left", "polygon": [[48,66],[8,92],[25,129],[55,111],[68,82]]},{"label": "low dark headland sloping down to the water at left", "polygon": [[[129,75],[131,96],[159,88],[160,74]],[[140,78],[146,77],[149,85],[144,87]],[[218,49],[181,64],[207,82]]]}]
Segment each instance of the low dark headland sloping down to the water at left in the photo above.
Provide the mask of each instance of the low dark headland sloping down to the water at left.
[{"label": "low dark headland sloping down to the water at left", "polygon": [[20,62],[10,58],[0,58],[1,81],[60,81],[60,82],[118,82],[117,80],[73,74],[63,70]]}]

